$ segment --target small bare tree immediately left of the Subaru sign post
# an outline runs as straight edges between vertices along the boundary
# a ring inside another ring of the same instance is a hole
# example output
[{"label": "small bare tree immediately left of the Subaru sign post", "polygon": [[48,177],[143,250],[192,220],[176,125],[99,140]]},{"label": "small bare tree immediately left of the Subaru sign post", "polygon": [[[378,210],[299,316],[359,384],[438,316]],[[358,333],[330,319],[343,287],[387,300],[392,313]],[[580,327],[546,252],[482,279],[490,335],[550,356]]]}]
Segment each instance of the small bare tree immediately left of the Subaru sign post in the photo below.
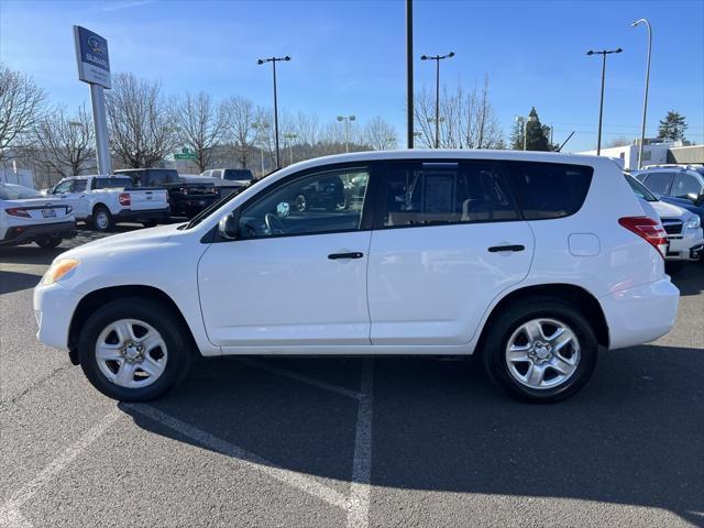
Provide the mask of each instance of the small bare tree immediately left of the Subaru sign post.
[{"label": "small bare tree immediately left of the Subaru sign post", "polygon": [[68,116],[63,107],[47,113],[34,128],[36,160],[61,177],[78,176],[96,166],[94,128],[86,107]]}]

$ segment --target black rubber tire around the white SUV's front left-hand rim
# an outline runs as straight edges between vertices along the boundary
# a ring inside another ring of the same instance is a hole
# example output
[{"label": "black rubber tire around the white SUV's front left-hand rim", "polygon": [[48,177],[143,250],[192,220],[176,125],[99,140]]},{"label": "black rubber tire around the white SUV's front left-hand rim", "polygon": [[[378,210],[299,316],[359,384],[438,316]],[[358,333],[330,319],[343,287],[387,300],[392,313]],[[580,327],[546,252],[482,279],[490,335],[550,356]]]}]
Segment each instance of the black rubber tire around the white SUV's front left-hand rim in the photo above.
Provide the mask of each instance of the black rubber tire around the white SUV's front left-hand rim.
[{"label": "black rubber tire around the white SUV's front left-hand rim", "polygon": [[[98,366],[96,343],[111,322],[138,319],[152,326],[162,336],[168,351],[161,376],[151,385],[128,388],[110,381]],[[174,310],[154,299],[124,297],[111,300],[96,310],[80,330],[78,358],[88,381],[106,396],[121,402],[147,402],[162,396],[186,377],[193,363],[191,339],[179,324]]]}]

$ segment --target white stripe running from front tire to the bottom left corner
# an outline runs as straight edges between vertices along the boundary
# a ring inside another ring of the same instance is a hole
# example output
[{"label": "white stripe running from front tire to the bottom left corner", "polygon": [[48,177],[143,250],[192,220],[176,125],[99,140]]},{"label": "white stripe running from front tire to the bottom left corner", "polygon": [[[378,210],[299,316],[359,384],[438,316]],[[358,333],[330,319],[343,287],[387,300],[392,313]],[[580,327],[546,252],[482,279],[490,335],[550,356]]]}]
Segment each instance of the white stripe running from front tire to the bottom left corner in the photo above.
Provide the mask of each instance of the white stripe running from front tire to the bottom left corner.
[{"label": "white stripe running from front tire to the bottom left corner", "polygon": [[0,508],[0,526],[32,526],[22,514],[19,508],[22,507],[28,501],[30,501],[34,494],[44,486],[50,480],[62,472],[64,468],[70,464],[76,457],[78,457],[88,446],[100,438],[108,428],[121,416],[124,416],[120,409],[116,408],[111,413],[107,414],[98,424],[82,433],[76,442],[74,442],[61,457],[54,459],[46,468],[44,468],[38,475],[32,479],[29,483],[18,490],[12,497]]}]

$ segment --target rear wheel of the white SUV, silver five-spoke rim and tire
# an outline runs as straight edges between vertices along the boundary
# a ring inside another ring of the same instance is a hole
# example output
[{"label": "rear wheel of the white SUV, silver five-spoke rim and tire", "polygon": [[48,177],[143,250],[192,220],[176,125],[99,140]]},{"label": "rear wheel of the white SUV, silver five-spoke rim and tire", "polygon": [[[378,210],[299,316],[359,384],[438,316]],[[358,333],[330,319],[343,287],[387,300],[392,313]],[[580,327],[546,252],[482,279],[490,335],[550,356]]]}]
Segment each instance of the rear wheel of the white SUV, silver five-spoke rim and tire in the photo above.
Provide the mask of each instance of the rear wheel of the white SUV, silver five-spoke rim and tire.
[{"label": "rear wheel of the white SUV, silver five-spoke rim and tire", "polygon": [[576,393],[591,377],[598,343],[588,320],[552,298],[510,306],[488,329],[484,366],[512,396],[551,403]]}]

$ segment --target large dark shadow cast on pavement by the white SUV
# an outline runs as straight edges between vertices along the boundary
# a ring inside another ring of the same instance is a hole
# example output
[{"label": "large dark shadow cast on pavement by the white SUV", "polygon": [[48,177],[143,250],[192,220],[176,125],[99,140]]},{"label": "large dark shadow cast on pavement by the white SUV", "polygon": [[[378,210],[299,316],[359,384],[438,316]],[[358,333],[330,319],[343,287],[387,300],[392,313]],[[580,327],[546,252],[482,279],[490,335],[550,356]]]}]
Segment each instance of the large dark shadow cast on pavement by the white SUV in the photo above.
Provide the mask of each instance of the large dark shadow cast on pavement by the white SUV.
[{"label": "large dark shadow cast on pavement by the white SUV", "polygon": [[[261,361],[358,391],[363,360]],[[636,505],[704,522],[702,350],[604,352],[587,386],[556,405],[508,398],[475,362],[372,361],[375,486]],[[145,430],[212,449],[120,406]],[[358,402],[324,387],[218,359],[150,406],[273,465],[352,481]]]}]

